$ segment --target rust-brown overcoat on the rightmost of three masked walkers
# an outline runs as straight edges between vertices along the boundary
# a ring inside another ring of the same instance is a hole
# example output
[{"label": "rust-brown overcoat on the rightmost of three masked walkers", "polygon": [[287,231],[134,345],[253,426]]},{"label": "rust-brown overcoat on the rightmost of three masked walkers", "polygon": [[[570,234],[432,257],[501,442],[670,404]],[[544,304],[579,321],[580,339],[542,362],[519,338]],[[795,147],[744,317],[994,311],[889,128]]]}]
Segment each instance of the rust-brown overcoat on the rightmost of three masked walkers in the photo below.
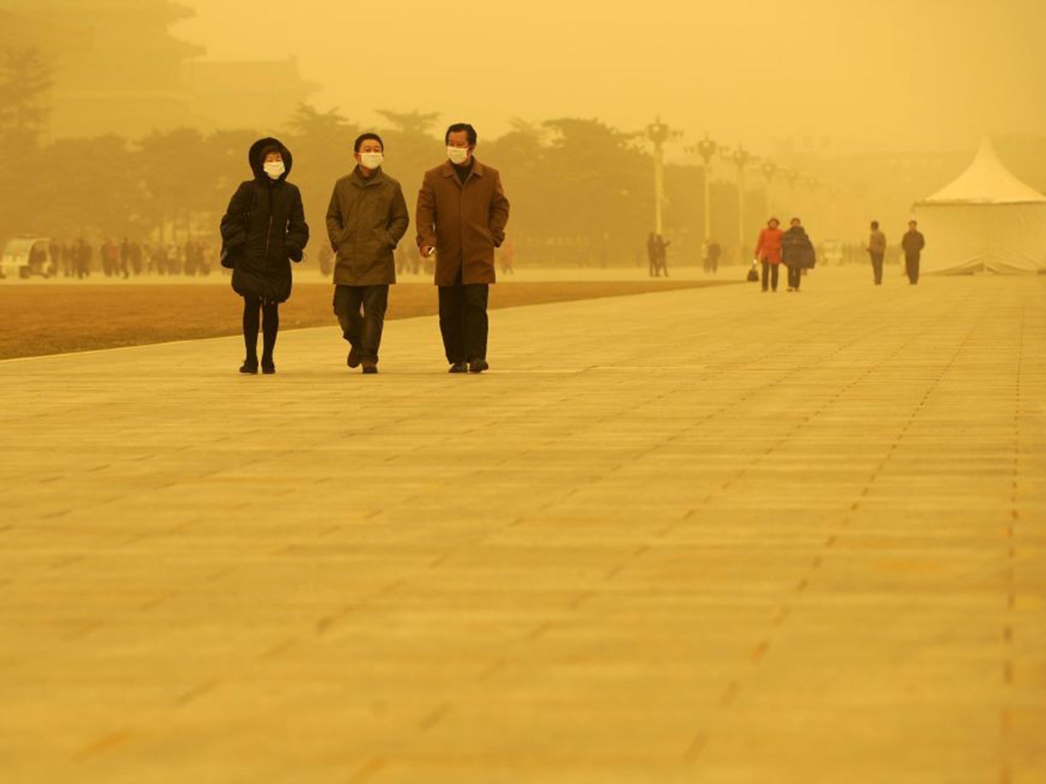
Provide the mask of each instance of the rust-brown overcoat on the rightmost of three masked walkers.
[{"label": "rust-brown overcoat on the rightmost of three masked walkers", "polygon": [[508,200],[497,169],[475,161],[464,184],[450,161],[425,172],[417,247],[436,249],[436,285],[493,283],[494,249],[505,238]]}]

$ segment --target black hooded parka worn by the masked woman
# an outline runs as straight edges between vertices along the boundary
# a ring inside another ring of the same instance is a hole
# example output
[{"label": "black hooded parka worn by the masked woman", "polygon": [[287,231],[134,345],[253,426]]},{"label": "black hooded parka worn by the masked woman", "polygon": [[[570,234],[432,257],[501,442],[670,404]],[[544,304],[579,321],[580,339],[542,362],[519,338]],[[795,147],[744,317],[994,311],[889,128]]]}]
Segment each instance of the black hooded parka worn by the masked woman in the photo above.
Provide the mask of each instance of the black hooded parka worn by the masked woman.
[{"label": "black hooded parka worn by the masked woman", "polygon": [[[265,172],[262,153],[275,147],[283,159],[278,180]],[[248,154],[254,179],[240,184],[222,217],[223,258],[233,262],[232,290],[264,302],[286,302],[291,296],[291,259],[300,261],[309,244],[309,225],[301,191],[287,182],[294,165],[277,139],[259,139]]]}]

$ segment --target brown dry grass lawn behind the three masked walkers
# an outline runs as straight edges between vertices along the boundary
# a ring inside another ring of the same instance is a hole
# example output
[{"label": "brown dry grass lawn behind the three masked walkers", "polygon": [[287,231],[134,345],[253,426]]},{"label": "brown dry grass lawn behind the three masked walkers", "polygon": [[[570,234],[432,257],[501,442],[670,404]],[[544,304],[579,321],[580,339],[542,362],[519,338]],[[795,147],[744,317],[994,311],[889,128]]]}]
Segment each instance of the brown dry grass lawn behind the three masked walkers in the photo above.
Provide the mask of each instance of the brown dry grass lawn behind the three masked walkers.
[{"label": "brown dry grass lawn behind the three masked walkers", "polygon": [[[605,281],[498,283],[491,307],[620,297],[715,285],[709,281]],[[297,283],[280,308],[280,328],[331,326],[334,287]],[[431,316],[435,286],[400,283],[389,294],[388,319]],[[0,286],[0,360],[88,351],[166,341],[238,335],[241,299],[223,285],[178,283]]]}]

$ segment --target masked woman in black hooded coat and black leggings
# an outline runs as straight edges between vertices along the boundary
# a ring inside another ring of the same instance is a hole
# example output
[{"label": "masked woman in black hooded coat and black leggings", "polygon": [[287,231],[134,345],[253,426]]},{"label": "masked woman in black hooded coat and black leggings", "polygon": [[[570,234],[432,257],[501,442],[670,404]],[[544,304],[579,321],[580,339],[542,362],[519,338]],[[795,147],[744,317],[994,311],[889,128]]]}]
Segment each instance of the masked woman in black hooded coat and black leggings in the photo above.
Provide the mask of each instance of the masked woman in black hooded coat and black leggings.
[{"label": "masked woman in black hooded coat and black leggings", "polygon": [[301,191],[287,181],[294,165],[277,139],[251,145],[254,179],[240,184],[222,218],[222,264],[232,269],[232,290],[244,298],[247,359],[241,373],[258,371],[258,313],[262,314],[262,372],[275,373],[273,349],[279,304],[291,296],[291,260],[301,261],[309,226]]}]

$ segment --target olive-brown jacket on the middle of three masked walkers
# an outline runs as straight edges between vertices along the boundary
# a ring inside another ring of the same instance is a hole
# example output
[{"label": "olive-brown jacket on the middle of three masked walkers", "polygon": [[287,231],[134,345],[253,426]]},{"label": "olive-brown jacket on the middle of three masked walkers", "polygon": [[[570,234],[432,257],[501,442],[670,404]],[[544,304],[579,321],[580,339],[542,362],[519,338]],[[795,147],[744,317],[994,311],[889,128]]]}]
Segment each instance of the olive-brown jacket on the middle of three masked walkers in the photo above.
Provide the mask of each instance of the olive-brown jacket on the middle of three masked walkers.
[{"label": "olive-brown jacket on the middle of three masked walkers", "polygon": [[381,169],[364,178],[357,168],[335,183],[326,224],[331,247],[338,254],[335,283],[395,282],[392,253],[410,225],[399,182]]}]

